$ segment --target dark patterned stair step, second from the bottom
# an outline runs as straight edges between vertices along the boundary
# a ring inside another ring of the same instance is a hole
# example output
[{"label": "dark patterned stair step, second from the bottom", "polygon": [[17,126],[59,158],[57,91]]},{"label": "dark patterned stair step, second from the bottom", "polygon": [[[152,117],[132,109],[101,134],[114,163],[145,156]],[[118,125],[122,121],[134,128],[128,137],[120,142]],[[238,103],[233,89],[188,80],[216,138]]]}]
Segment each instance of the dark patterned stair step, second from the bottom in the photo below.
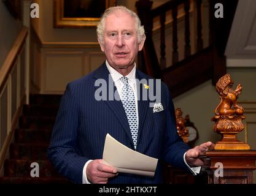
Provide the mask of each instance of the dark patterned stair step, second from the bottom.
[{"label": "dark patterned stair step, second from the bottom", "polygon": [[39,176],[51,177],[60,174],[53,168],[49,160],[22,160],[22,159],[7,159],[4,162],[4,176],[9,177],[30,177],[30,172],[34,167],[30,165],[36,162],[39,164]]}]

